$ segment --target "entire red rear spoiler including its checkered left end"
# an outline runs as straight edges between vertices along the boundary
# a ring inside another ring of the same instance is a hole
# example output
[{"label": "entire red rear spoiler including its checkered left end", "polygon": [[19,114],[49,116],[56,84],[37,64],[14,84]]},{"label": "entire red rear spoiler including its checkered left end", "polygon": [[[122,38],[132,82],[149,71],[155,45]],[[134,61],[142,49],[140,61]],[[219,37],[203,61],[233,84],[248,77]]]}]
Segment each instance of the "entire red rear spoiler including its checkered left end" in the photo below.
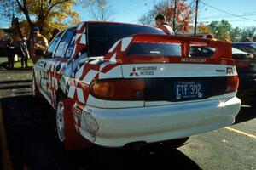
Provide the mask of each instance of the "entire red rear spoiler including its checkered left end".
[{"label": "entire red rear spoiler including its checkered left end", "polygon": [[[131,60],[131,57],[125,57],[125,54],[129,50],[132,43],[136,42],[157,42],[157,43],[176,43],[181,46],[181,56],[177,56],[178,59],[188,58],[189,48],[192,46],[204,46],[207,48],[214,48],[214,54],[210,59],[226,59],[230,60],[230,65],[233,65],[232,59],[232,44],[230,42],[217,41],[214,39],[207,39],[201,37],[185,37],[185,36],[168,36],[159,34],[135,34],[130,37],[124,37],[113,44],[113,47],[108,50],[108,53],[104,56],[104,60],[108,60],[112,63],[122,63],[125,59]],[[198,56],[201,58],[201,56]],[[168,59],[171,59],[167,57]],[[175,57],[172,57],[174,59]],[[195,58],[195,57],[193,57]],[[157,57],[159,60],[160,58]],[[146,62],[145,58],[135,59]],[[125,61],[128,62],[128,61]],[[157,62],[157,61],[156,61]],[[159,61],[160,62],[160,61]]]}]

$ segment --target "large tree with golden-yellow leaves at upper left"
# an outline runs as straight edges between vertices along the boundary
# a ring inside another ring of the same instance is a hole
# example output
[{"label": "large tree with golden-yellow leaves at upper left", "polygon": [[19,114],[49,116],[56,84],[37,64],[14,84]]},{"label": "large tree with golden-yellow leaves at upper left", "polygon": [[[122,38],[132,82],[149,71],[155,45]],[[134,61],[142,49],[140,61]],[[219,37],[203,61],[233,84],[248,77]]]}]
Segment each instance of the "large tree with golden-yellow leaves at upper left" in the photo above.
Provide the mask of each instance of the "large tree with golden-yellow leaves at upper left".
[{"label": "large tree with golden-yellow leaves at upper left", "polygon": [[19,20],[27,22],[29,30],[38,26],[44,36],[50,37],[55,28],[63,29],[78,23],[80,15],[73,11],[73,5],[89,4],[91,1],[93,0],[0,0],[0,8],[5,18],[11,19],[15,15]]}]

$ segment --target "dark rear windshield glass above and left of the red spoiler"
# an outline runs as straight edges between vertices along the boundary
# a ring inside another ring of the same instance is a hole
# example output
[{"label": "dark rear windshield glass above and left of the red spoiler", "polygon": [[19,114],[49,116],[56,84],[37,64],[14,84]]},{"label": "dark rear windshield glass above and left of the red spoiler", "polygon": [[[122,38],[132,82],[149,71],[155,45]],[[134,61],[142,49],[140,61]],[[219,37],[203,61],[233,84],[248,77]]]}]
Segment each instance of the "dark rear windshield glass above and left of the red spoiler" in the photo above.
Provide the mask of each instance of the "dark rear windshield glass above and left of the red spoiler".
[{"label": "dark rear windshield glass above and left of the red spoiler", "polygon": [[116,23],[89,23],[89,55],[103,56],[123,37],[128,37],[138,33],[145,34],[165,34],[163,31],[148,27]]}]

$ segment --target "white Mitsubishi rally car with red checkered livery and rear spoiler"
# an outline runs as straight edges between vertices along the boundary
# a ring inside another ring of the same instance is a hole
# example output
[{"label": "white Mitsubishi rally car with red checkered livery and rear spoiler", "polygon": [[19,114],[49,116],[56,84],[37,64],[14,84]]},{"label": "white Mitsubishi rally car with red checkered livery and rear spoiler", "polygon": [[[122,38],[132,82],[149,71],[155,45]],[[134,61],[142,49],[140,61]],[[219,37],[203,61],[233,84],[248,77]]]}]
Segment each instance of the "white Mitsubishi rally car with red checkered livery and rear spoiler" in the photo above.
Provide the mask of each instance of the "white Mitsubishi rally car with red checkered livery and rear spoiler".
[{"label": "white Mitsubishi rally car with red checkered livery and rear spoiler", "polygon": [[[212,58],[189,57],[207,44]],[[153,27],[82,22],[61,31],[33,67],[32,95],[56,112],[67,149],[182,141],[234,122],[241,100],[231,44]]]}]

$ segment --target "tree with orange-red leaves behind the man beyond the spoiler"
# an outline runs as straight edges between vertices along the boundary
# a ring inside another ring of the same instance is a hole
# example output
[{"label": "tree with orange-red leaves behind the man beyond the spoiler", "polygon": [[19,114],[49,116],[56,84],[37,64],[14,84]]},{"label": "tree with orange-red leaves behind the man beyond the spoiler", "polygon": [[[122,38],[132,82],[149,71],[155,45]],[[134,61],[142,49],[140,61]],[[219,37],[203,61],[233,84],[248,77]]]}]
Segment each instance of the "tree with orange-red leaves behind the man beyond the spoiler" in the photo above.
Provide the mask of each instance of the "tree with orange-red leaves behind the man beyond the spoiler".
[{"label": "tree with orange-red leaves behind the man beyond the spoiler", "polygon": [[[175,3],[176,2],[176,3]],[[195,2],[188,0],[167,0],[156,3],[148,14],[144,14],[139,22],[144,25],[154,26],[154,18],[157,14],[164,14],[166,22],[172,26],[173,31],[189,31],[189,24],[195,13]]]}]

